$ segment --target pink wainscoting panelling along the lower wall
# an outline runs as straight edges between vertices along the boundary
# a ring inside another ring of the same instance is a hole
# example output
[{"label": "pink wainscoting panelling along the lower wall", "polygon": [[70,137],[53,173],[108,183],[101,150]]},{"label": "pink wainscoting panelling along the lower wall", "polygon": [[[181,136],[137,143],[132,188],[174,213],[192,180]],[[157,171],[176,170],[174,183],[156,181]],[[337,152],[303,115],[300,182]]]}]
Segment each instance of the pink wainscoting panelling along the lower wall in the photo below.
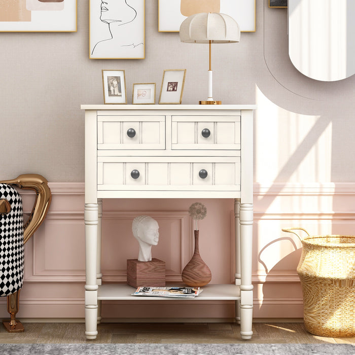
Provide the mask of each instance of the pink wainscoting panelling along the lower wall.
[{"label": "pink wainscoting panelling along the lower wall", "polygon": [[[20,296],[21,318],[83,318],[85,283],[84,184],[50,183],[52,203],[45,222],[25,245],[25,280]],[[32,209],[34,194],[19,190],[24,212]],[[303,301],[296,267],[301,242],[282,228],[303,227],[310,234],[354,234],[355,184],[254,185],[254,316],[298,318]],[[136,258],[137,243],[131,221],[138,214],[155,218],[160,240],[152,249],[166,261],[167,281],[181,280],[181,271],[193,252],[191,201],[117,200],[103,203],[103,282],[125,282],[126,259]],[[193,201],[194,202],[194,201]],[[212,282],[232,282],[234,262],[233,201],[201,200],[207,217],[200,223],[201,255],[212,270]],[[227,217],[226,212],[227,211]],[[229,211],[229,213],[228,213]],[[25,216],[26,218],[26,216]],[[209,233],[210,232],[210,233]],[[210,234],[210,235],[209,235]],[[202,249],[202,250],[201,250]],[[222,255],[223,257],[218,257]],[[0,316],[7,317],[6,298]],[[102,302],[105,320],[205,318],[230,321],[234,302],[172,301]]]}]

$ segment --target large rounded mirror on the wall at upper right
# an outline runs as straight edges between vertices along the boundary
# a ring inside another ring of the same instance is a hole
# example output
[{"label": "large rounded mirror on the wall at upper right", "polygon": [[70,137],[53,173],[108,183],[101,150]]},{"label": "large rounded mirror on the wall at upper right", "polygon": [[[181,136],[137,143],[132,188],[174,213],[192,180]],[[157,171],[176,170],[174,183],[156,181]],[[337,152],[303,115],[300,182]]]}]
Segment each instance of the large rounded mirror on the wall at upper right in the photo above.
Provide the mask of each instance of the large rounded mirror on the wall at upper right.
[{"label": "large rounded mirror on the wall at upper right", "polygon": [[289,55],[309,78],[355,74],[355,0],[289,0]]}]

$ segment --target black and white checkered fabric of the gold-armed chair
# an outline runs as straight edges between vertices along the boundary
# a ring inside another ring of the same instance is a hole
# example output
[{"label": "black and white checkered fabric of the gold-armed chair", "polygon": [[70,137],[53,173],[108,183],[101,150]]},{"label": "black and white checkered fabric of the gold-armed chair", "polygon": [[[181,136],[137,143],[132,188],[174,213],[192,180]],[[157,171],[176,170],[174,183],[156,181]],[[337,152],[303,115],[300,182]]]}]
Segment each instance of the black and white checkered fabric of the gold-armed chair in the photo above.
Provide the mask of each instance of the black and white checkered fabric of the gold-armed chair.
[{"label": "black and white checkered fabric of the gold-armed chair", "polygon": [[23,209],[20,194],[0,184],[0,199],[10,202],[11,211],[0,214],[0,296],[18,291],[23,283]]}]

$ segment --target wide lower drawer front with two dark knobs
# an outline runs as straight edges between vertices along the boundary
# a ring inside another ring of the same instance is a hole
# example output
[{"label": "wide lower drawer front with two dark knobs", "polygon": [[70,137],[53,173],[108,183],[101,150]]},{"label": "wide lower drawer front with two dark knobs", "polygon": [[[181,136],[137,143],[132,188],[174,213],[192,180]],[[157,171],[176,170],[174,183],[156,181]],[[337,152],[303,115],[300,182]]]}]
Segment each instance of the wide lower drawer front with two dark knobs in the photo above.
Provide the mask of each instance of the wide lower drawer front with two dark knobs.
[{"label": "wide lower drawer front with two dark knobs", "polygon": [[240,157],[98,157],[98,190],[240,191]]}]

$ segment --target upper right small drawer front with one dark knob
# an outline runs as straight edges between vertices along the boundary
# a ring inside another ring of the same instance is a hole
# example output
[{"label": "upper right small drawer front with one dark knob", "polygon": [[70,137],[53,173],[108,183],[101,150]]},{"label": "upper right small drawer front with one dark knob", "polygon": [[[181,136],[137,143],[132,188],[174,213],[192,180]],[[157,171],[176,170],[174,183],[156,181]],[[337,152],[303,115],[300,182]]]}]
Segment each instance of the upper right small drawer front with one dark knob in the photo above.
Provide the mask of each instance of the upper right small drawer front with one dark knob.
[{"label": "upper right small drawer front with one dark knob", "polygon": [[240,116],[172,116],[172,149],[240,150]]}]

